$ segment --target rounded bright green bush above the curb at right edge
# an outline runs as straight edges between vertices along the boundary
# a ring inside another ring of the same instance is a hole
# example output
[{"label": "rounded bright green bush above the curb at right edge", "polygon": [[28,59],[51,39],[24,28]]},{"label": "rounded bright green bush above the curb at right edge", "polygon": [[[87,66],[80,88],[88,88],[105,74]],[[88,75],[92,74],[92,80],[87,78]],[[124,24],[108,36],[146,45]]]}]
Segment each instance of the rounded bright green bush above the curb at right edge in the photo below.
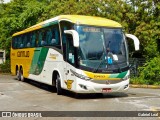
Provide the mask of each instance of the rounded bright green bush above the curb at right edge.
[{"label": "rounded bright green bush above the curb at right edge", "polygon": [[148,61],[139,71],[139,79],[145,84],[160,85],[160,56]]}]

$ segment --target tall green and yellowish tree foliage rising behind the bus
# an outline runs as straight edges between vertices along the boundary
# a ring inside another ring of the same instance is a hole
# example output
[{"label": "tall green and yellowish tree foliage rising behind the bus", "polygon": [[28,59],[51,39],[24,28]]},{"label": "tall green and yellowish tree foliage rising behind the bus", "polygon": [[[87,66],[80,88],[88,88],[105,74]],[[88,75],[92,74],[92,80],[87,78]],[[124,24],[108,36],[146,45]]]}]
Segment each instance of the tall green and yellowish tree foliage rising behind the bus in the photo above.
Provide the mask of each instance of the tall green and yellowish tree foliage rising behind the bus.
[{"label": "tall green and yellowish tree foliage rising behind the bus", "polygon": [[0,4],[0,11],[0,48],[7,53],[13,33],[57,15],[80,14],[120,22],[127,33],[140,39],[139,55],[145,58],[159,55],[160,2],[157,0],[12,0]]}]

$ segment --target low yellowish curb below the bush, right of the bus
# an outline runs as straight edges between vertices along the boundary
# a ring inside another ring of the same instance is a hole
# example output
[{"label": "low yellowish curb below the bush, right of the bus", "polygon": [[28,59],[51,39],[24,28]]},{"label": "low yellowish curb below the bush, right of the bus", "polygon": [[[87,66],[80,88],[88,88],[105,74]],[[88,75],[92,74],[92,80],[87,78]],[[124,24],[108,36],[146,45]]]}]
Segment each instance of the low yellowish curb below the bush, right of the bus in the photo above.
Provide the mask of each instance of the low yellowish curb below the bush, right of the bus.
[{"label": "low yellowish curb below the bush, right of the bus", "polygon": [[159,85],[129,85],[131,88],[151,88],[151,89],[160,89]]}]

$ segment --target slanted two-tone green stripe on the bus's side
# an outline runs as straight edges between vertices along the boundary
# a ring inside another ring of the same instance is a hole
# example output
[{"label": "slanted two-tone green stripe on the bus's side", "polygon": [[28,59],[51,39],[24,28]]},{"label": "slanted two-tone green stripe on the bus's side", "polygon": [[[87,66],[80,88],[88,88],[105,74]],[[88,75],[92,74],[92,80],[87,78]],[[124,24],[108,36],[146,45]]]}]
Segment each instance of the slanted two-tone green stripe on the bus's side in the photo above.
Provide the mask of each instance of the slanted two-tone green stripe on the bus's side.
[{"label": "slanted two-tone green stripe on the bus's side", "polygon": [[42,72],[48,48],[36,48],[30,68],[30,74],[39,75]]}]

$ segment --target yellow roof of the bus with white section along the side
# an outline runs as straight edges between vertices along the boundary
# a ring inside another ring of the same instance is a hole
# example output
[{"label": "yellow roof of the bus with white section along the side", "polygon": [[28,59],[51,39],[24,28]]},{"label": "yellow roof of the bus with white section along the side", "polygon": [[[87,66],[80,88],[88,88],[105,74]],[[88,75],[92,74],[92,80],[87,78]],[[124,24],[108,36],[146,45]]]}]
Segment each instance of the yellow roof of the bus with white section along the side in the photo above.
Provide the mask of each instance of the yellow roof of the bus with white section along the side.
[{"label": "yellow roof of the bus with white section along the side", "polygon": [[60,16],[51,18],[49,20],[43,21],[41,23],[38,23],[20,32],[17,32],[13,34],[13,36],[34,31],[34,30],[46,27],[50,24],[54,24],[55,22],[58,22],[61,20],[70,21],[72,23],[80,24],[80,25],[82,24],[82,25],[93,25],[93,26],[104,26],[104,27],[122,27],[121,24],[119,24],[118,22],[115,22],[113,20],[109,20],[106,18],[101,18],[101,17],[84,16],[84,15],[60,15]]}]

